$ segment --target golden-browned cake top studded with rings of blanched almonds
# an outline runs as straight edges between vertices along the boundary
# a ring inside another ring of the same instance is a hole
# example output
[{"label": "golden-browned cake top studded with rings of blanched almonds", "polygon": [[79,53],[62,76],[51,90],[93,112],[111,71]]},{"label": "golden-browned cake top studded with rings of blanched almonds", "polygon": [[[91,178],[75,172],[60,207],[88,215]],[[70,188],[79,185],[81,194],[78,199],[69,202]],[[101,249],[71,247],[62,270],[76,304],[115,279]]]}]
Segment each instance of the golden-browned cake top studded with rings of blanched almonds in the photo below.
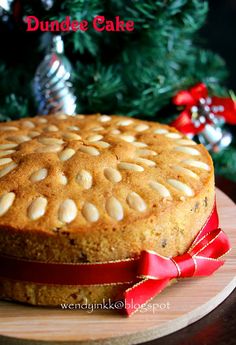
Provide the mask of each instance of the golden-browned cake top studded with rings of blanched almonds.
[{"label": "golden-browned cake top studded with rings of blanched almonds", "polygon": [[78,231],[188,202],[213,173],[175,129],[120,116],[64,114],[0,125],[0,227]]}]

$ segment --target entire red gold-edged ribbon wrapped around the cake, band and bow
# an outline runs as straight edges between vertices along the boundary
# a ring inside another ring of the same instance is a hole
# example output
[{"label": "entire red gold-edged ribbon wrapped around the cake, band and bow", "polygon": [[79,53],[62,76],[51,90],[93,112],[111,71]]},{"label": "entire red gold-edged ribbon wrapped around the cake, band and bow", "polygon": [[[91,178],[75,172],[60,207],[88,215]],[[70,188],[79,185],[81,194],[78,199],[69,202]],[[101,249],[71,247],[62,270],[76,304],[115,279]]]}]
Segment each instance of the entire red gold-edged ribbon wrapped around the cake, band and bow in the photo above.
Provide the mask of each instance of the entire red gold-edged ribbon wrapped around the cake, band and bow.
[{"label": "entire red gold-edged ribbon wrapped around the cake, band and bow", "polygon": [[0,255],[0,276],[18,281],[59,285],[130,283],[124,293],[127,315],[160,293],[173,278],[208,276],[224,261],[230,249],[218,229],[216,206],[189,250],[173,258],[143,251],[136,258],[96,263],[47,263]]}]

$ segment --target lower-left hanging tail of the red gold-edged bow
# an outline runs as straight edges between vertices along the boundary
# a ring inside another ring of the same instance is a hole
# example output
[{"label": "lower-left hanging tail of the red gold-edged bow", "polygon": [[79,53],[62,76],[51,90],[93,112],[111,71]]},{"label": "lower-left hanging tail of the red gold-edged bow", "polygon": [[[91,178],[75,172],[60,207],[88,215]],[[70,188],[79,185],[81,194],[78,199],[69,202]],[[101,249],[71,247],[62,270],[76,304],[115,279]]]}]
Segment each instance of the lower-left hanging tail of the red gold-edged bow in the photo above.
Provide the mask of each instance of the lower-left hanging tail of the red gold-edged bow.
[{"label": "lower-left hanging tail of the red gold-edged bow", "polygon": [[128,288],[124,293],[124,312],[132,315],[143,304],[159,294],[169,283],[170,278],[145,279]]}]

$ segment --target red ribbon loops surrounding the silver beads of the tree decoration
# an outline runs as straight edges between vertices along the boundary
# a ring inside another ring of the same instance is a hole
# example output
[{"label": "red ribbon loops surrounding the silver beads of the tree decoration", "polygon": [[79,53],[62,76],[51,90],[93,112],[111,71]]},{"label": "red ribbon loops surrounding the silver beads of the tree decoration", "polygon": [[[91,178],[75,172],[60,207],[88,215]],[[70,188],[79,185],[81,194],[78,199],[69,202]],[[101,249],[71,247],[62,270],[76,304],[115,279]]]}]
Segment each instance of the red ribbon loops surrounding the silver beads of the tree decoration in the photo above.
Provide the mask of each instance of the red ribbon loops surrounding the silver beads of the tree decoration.
[{"label": "red ribbon loops surrounding the silver beads of the tree decoration", "polygon": [[[205,84],[199,83],[188,90],[179,91],[173,98],[173,103],[177,106],[184,106],[184,110],[180,113],[175,121],[171,123],[171,126],[178,129],[184,134],[198,134],[202,132],[207,123],[211,123],[207,120],[205,124],[201,124],[196,127],[192,120],[192,107],[198,106],[200,99],[207,99],[208,90]],[[223,117],[224,120],[231,124],[236,124],[236,102],[231,98],[223,97],[211,97],[212,112],[216,116]],[[219,106],[223,107],[223,111],[219,111]],[[218,110],[217,110],[218,109]]]}]

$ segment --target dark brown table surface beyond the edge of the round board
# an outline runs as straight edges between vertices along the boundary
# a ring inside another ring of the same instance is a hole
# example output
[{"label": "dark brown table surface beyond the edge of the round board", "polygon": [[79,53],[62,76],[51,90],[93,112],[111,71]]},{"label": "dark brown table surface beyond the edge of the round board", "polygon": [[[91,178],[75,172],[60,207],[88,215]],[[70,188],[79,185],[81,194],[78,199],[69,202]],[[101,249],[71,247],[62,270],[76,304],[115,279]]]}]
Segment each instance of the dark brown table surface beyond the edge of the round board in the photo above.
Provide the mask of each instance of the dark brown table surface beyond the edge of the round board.
[{"label": "dark brown table surface beyond the edge of the round board", "polygon": [[[236,203],[236,183],[217,177],[216,185]],[[145,342],[143,344],[235,345],[236,290],[234,290],[234,292],[222,304],[201,320],[166,337]]]}]

